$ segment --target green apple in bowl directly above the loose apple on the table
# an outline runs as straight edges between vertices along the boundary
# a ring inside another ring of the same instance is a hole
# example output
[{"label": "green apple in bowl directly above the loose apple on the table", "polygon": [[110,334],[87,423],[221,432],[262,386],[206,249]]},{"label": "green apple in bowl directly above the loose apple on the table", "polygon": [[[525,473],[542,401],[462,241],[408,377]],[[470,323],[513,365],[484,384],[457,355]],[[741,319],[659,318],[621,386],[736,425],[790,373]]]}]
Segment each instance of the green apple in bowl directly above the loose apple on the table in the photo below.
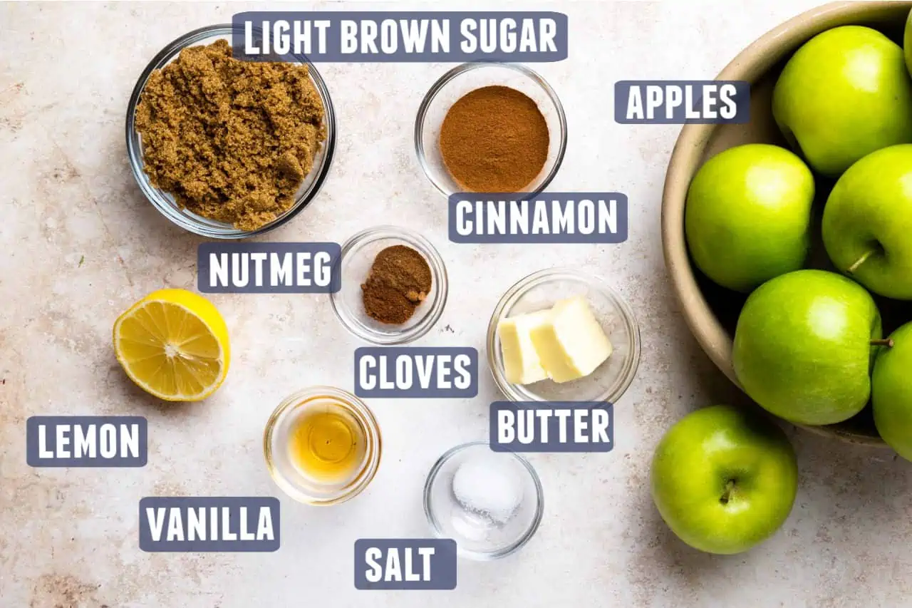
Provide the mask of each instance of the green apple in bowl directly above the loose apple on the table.
[{"label": "green apple in bowl directly above the loose apple on the table", "polygon": [[871,395],[880,312],[855,281],[797,270],[751,293],[735,329],[731,362],[745,393],[802,425],[851,418]]}]

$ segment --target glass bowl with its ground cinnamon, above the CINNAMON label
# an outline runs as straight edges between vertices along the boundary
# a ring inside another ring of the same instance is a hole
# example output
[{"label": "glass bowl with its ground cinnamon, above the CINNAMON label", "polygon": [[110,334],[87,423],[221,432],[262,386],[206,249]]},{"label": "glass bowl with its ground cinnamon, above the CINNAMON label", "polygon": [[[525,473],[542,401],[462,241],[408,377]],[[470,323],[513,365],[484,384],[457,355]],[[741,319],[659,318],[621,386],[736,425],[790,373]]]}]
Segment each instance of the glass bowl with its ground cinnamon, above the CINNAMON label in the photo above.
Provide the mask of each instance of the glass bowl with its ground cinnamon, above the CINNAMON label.
[{"label": "glass bowl with its ground cinnamon, above the CINNAMON label", "polygon": [[415,151],[445,195],[539,193],[566,150],[564,107],[554,89],[520,64],[467,63],[425,95]]}]

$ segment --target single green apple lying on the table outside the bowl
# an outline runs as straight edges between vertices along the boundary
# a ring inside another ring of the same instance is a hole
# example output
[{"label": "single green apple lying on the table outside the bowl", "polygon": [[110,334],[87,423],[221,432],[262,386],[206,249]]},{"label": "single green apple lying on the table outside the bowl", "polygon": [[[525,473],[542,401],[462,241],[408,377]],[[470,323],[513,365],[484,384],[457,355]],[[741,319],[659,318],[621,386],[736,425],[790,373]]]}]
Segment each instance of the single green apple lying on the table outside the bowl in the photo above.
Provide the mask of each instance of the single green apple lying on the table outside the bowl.
[{"label": "single green apple lying on the table outside the bowl", "polygon": [[798,466],[782,429],[731,405],[686,415],[652,458],[652,499],[691,547],[740,553],[768,539],[792,511]]}]

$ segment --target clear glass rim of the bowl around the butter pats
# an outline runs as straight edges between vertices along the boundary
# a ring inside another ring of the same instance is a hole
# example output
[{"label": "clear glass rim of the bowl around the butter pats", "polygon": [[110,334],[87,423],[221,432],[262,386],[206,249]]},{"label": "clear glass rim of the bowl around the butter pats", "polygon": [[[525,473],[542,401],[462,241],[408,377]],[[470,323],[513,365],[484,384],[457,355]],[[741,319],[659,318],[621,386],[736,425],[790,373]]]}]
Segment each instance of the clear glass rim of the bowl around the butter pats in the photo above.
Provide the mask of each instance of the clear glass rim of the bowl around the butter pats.
[{"label": "clear glass rim of the bowl around the butter pats", "polygon": [[497,388],[500,389],[501,393],[510,401],[544,401],[544,399],[538,398],[533,394],[519,393],[513,384],[507,381],[503,370],[497,364],[497,323],[501,320],[504,311],[511,309],[516,301],[522,298],[529,289],[548,280],[562,277],[578,280],[586,283],[590,287],[598,289],[621,311],[624,326],[631,337],[630,355],[627,357],[624,368],[618,375],[619,382],[608,386],[602,394],[592,400],[615,404],[624,393],[627,393],[627,389],[630,387],[630,384],[633,383],[633,379],[637,374],[637,368],[639,367],[640,336],[637,318],[634,315],[633,310],[630,309],[630,306],[627,304],[627,300],[622,298],[621,295],[617,293],[614,288],[611,288],[602,278],[571,267],[544,268],[531,275],[527,275],[517,281],[512,288],[507,289],[500,301],[497,302],[497,306],[494,307],[494,311],[492,312],[491,320],[488,322],[487,335],[488,368],[491,370],[494,383],[497,384]]}]

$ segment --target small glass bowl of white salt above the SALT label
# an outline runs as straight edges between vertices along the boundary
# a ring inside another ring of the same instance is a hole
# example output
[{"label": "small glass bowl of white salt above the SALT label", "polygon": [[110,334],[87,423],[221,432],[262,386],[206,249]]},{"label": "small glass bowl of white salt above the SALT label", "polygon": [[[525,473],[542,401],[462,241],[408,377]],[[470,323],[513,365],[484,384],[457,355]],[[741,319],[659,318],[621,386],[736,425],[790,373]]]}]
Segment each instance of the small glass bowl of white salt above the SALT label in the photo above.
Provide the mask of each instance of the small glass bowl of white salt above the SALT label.
[{"label": "small glass bowl of white salt above the SALT label", "polygon": [[[466,472],[462,480],[457,474]],[[479,475],[489,482],[502,481],[486,488],[475,483]],[[487,493],[496,492],[499,496]],[[468,496],[465,496],[468,494]],[[509,502],[504,503],[504,499]],[[473,504],[489,502],[487,508]],[[495,510],[497,502],[508,510]],[[443,539],[456,540],[461,557],[489,561],[519,550],[538,529],[544,513],[542,482],[529,461],[513,452],[493,452],[484,441],[453,447],[431,467],[424,484],[424,513],[430,529]]]}]

